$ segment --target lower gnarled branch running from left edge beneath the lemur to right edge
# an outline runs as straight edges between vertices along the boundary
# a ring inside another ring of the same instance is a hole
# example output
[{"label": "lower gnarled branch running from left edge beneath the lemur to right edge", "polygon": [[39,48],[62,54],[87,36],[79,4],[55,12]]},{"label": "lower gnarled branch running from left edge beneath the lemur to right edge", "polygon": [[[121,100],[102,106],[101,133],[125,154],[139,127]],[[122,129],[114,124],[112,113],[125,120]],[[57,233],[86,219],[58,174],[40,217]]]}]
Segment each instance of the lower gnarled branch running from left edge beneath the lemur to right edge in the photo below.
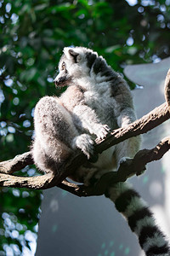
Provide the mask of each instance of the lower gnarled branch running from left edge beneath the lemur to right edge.
[{"label": "lower gnarled branch running from left edge beneath the lemur to right edge", "polygon": [[[65,178],[66,171],[71,173],[73,170],[75,170],[75,165],[80,165],[79,160],[81,160],[82,162],[84,161],[84,155],[82,154],[77,155],[74,160],[71,160],[71,162],[67,164],[67,166],[65,167],[65,172],[63,172],[63,176],[58,177],[55,175],[45,174],[37,177],[17,177],[1,173],[0,186],[30,189],[48,189],[57,185],[59,188],[65,189],[72,194],[78,196],[102,195],[105,191],[106,186],[108,186],[110,182],[124,182],[127,180],[128,177],[131,177],[134,174],[141,174],[141,172],[145,170],[145,165],[147,163],[153,160],[160,160],[163,154],[165,154],[169,150],[169,148],[170,138],[167,137],[164,138],[160,143],[158,143],[155,148],[140,150],[134,156],[133,160],[127,160],[120,166],[117,172],[109,172],[108,174],[105,174],[104,177],[101,177],[97,187],[94,188],[87,188],[82,185],[78,186],[73,183],[62,181]],[[17,157],[20,158],[20,156],[22,157],[22,155],[23,154],[20,154]],[[9,160],[9,163],[11,163],[11,161],[13,160]],[[62,183],[58,183],[59,178]]]}]

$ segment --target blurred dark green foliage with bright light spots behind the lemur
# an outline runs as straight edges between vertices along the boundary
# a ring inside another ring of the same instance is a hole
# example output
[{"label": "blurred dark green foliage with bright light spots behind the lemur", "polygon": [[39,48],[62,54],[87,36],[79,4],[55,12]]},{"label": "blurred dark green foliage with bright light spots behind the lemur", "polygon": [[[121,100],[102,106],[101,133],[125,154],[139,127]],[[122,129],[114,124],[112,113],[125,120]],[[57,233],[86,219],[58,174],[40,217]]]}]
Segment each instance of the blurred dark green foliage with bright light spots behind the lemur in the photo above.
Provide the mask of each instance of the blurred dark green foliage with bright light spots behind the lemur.
[{"label": "blurred dark green foliage with bright light spots behind the lemur", "polygon": [[[53,79],[65,46],[94,49],[122,73],[169,56],[169,33],[170,0],[0,0],[0,161],[29,150],[37,101],[62,92]],[[34,166],[18,174],[38,175]],[[63,200],[65,191],[58,193]],[[42,198],[42,191],[0,188],[0,255],[35,254]]]}]

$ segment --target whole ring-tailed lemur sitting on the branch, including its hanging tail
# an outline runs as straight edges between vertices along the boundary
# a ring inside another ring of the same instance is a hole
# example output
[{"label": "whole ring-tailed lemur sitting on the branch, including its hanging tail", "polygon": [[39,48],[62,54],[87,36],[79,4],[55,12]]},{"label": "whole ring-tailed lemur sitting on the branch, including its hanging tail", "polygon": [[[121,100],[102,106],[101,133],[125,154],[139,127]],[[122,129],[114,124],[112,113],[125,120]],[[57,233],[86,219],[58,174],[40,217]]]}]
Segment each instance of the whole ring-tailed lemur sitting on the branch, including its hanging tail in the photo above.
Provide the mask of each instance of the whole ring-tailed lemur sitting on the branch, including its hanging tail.
[{"label": "whole ring-tailed lemur sitting on the branch, including its hanging tail", "polygon": [[[54,84],[68,88],[60,97],[42,97],[34,114],[32,153],[42,172],[59,172],[60,166],[80,148],[88,164],[71,178],[88,185],[116,169],[124,157],[133,157],[139,149],[139,137],[105,150],[96,160],[90,159],[95,137],[103,138],[110,129],[125,127],[136,119],[127,83],[103,57],[91,49],[66,47]],[[127,218],[146,255],[170,255],[165,237],[136,191],[127,183],[117,183],[108,188],[106,196]]]}]

